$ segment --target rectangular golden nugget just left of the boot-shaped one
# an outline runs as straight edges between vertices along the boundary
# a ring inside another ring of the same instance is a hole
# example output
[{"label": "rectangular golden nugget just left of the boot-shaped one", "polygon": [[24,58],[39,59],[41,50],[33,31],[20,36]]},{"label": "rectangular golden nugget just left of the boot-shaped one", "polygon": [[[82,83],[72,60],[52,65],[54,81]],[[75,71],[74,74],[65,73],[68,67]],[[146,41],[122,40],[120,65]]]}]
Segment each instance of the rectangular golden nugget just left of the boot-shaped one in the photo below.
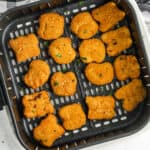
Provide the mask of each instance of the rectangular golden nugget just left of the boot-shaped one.
[{"label": "rectangular golden nugget just left of the boot-shaped one", "polygon": [[112,119],[115,115],[115,100],[112,96],[87,96],[88,119]]}]

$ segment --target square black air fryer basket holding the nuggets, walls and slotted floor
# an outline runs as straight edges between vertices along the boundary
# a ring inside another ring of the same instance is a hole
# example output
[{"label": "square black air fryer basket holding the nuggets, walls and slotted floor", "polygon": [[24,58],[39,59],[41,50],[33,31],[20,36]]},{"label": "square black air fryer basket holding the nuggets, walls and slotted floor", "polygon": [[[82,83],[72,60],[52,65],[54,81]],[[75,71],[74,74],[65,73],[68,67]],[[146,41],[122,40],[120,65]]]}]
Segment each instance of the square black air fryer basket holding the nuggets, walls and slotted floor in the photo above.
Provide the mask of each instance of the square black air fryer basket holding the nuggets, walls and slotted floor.
[{"label": "square black air fryer basket holding the nuggets, walls and slotted floor", "polygon": [[[50,11],[56,11],[65,16],[65,33],[64,36],[69,36],[73,40],[73,47],[77,50],[80,40],[70,32],[70,20],[72,16],[80,11],[91,11],[93,8],[98,7],[107,0],[49,0],[32,3],[26,6],[18,7],[6,12],[0,18],[0,64],[1,64],[1,77],[0,83],[7,103],[16,134],[22,145],[27,149],[39,148],[41,150],[48,149],[39,145],[32,136],[33,128],[39,123],[40,119],[26,119],[23,117],[23,108],[21,105],[21,97],[25,94],[33,93],[41,90],[48,90],[50,93],[53,104],[58,110],[61,106],[70,103],[81,103],[85,112],[87,113],[87,107],[84,99],[87,95],[112,95],[112,93],[119,87],[127,84],[129,80],[118,81],[114,79],[111,84],[105,86],[95,86],[90,84],[84,74],[83,70],[85,64],[83,64],[79,58],[68,65],[58,65],[47,54],[47,42],[42,39],[40,41],[41,55],[36,58],[29,59],[26,62],[18,64],[15,59],[15,55],[8,46],[8,41],[11,38],[15,38],[20,35],[28,33],[36,33],[38,28],[38,18],[40,14]],[[117,115],[112,120],[102,121],[87,121],[86,125],[81,129],[66,132],[65,135],[58,139],[54,143],[53,148],[49,149],[79,149],[88,145],[101,143],[104,141],[120,138],[125,135],[134,133],[142,128],[149,119],[150,114],[150,92],[149,92],[149,64],[146,56],[145,47],[142,41],[142,36],[138,27],[138,20],[132,5],[127,0],[116,0],[118,6],[123,9],[127,17],[116,25],[118,28],[123,25],[127,25],[130,28],[134,44],[131,48],[123,52],[124,54],[134,54],[139,60],[141,65],[141,79],[144,85],[147,87],[147,98],[141,103],[137,109],[131,113],[127,113],[121,107],[121,103],[116,101]],[[100,37],[101,33],[98,33],[95,37]],[[45,84],[43,87],[33,90],[26,87],[23,84],[22,77],[27,72],[29,63],[33,59],[44,59],[51,66],[52,73],[56,71],[74,71],[78,77],[77,93],[71,97],[58,97],[51,91],[49,84]],[[106,57],[106,61],[113,62],[114,58]],[[59,120],[60,121],[60,120]]]}]

